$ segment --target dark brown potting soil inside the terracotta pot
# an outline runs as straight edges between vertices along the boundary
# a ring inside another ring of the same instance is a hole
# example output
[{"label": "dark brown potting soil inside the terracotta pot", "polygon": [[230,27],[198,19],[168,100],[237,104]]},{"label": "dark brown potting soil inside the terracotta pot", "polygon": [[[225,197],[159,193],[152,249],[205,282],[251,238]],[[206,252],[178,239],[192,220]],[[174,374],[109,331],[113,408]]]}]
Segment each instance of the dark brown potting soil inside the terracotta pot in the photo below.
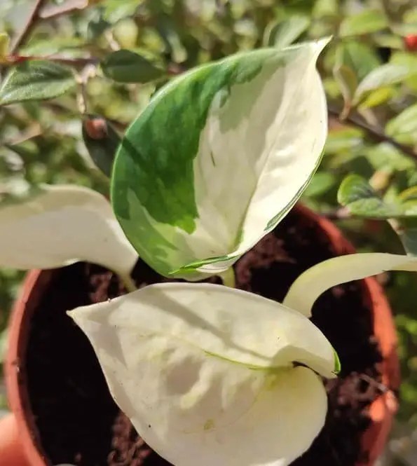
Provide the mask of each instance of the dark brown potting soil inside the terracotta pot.
[{"label": "dark brown potting soil inside the terracotta pot", "polygon": [[[238,261],[237,286],[282,301],[303,270],[333,255],[317,226],[293,211]],[[139,286],[166,280],[142,261],[133,275]],[[121,285],[110,272],[76,263],[57,273],[34,313],[22,369],[51,465],[168,466],[114,404],[90,343],[66,315],[76,306],[118,294]],[[359,282],[323,294],[313,321],[339,353],[342,372],[327,383],[329,411],[322,432],[293,466],[353,466],[366,455],[360,448],[369,425],[366,408],[379,395],[369,380],[381,378],[375,367],[381,355]]]}]

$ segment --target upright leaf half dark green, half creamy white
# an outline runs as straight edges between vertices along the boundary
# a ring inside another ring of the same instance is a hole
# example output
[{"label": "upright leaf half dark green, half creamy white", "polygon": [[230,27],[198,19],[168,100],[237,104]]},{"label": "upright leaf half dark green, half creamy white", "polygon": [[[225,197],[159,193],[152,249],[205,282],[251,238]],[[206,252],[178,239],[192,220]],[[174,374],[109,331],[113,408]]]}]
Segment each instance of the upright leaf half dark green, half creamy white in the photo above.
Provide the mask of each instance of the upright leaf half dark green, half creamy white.
[{"label": "upright leaf half dark green, half creamy white", "polygon": [[203,65],[165,85],[125,133],[111,202],[165,276],[221,273],[287,214],[320,163],[328,39]]}]

